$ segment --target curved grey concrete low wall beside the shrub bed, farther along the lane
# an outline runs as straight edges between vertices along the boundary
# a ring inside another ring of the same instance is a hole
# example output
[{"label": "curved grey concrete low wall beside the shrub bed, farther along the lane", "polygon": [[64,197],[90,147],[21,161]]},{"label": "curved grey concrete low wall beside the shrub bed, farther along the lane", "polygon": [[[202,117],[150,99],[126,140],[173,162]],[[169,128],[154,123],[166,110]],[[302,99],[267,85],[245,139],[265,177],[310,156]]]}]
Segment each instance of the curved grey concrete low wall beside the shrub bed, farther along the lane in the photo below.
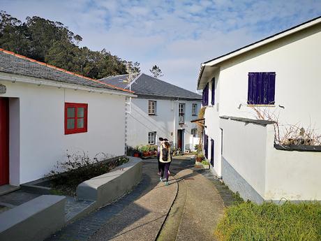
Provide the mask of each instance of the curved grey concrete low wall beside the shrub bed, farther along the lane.
[{"label": "curved grey concrete low wall beside the shrub bed, farther along the lane", "polygon": [[128,156],[130,161],[110,173],[82,182],[77,187],[77,198],[96,200],[96,207],[102,207],[124,195],[142,180],[142,160]]}]

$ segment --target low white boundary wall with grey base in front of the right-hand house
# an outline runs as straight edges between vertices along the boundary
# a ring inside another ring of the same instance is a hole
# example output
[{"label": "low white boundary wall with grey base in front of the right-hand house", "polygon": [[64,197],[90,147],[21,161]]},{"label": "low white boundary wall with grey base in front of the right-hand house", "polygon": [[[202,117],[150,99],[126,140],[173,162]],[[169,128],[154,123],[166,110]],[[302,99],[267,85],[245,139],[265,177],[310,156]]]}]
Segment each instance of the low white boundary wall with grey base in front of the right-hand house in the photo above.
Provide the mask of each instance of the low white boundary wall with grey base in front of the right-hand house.
[{"label": "low white boundary wall with grey base in front of the right-hand house", "polygon": [[[273,122],[221,117],[222,178],[245,200],[321,200],[321,152],[274,147]],[[321,149],[321,148],[320,148]]]}]

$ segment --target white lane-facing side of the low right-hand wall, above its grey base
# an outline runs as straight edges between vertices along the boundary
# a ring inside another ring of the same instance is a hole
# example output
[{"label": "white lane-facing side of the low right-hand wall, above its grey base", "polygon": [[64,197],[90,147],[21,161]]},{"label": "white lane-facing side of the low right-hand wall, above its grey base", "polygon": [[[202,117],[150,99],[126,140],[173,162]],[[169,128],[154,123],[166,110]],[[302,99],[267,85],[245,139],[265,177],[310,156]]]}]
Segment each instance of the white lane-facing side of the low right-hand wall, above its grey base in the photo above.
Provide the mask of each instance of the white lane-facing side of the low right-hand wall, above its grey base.
[{"label": "white lane-facing side of the low right-hand wall, above its grey base", "polygon": [[266,127],[229,119],[221,119],[220,126],[223,129],[223,158],[264,197]]}]

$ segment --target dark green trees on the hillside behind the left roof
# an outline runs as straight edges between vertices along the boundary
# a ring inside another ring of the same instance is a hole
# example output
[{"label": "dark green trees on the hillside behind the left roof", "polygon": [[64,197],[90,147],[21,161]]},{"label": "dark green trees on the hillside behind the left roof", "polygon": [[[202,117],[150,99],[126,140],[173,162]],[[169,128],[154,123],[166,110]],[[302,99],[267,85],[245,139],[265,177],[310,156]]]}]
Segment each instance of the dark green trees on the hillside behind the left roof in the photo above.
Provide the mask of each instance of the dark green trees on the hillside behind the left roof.
[{"label": "dark green trees on the hillside behind the left roof", "polygon": [[[80,41],[82,37],[61,22],[37,16],[27,17],[26,22],[21,22],[0,11],[0,48],[94,79],[127,73],[128,61],[105,49],[92,51],[87,47],[80,48]],[[131,66],[133,71],[140,72],[138,62]]]}]

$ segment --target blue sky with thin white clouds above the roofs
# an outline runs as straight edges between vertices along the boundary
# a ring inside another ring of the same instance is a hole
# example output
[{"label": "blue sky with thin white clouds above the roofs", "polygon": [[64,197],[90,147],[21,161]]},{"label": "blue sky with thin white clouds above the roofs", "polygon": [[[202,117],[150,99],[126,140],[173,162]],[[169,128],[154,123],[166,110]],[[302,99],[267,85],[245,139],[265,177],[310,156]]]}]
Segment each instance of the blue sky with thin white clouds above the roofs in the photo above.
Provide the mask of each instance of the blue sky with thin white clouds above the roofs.
[{"label": "blue sky with thin white clouds above the roofs", "polygon": [[140,62],[161,80],[196,92],[200,64],[321,15],[321,0],[0,0],[19,20],[39,16],[82,36],[80,46],[105,48]]}]

